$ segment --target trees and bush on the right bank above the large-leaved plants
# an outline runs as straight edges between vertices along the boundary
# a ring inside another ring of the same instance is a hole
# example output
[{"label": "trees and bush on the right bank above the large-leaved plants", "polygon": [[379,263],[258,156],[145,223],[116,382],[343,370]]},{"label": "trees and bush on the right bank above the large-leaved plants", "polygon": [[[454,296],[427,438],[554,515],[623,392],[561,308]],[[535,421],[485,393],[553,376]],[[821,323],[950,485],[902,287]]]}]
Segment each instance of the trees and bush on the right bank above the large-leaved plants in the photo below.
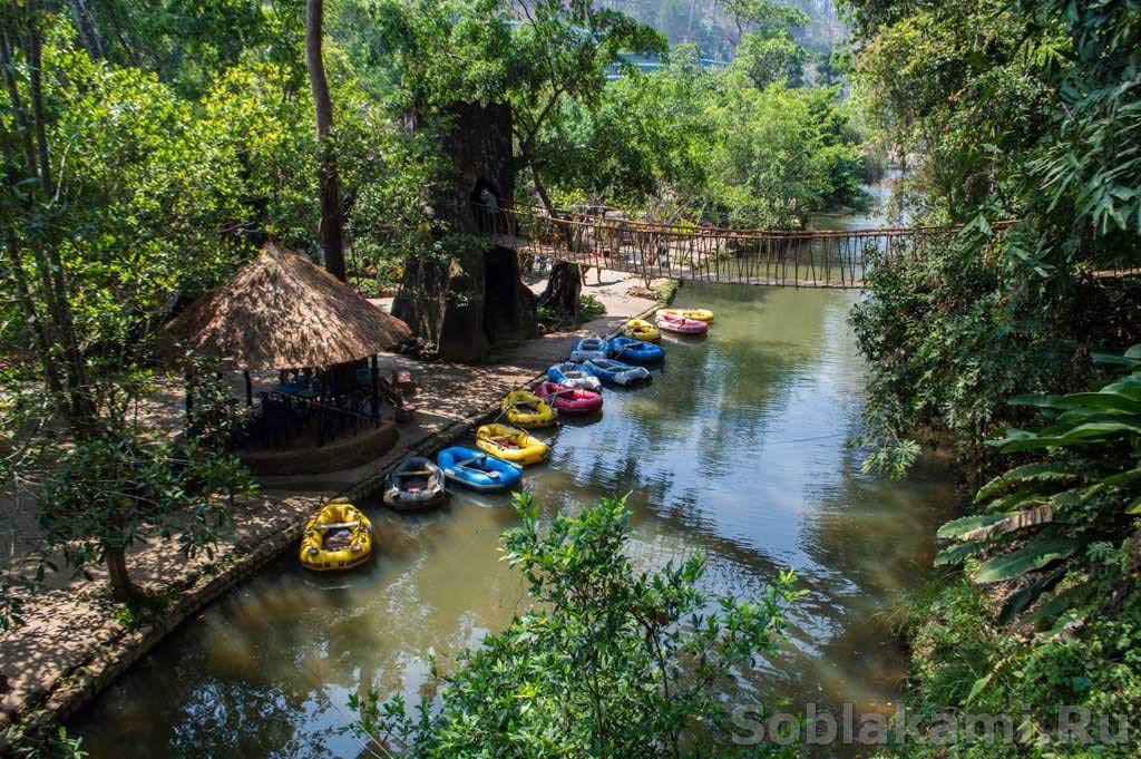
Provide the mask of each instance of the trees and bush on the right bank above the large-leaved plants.
[{"label": "trees and bush on the right bank above the large-leaved plants", "polygon": [[[1141,252],[1128,171],[1141,80],[1124,42],[1139,13],[1127,3],[857,5],[869,111],[899,153],[921,156],[915,211],[965,223],[924,261],[867,277],[871,297],[853,323],[872,361],[872,465],[906,465],[904,442],[929,426],[985,471],[994,460],[984,441],[1025,418],[1006,397],[1074,389],[1094,373],[1091,346],[1141,338],[1141,285],[1090,276]],[[1111,46],[1103,58],[1094,31]],[[998,235],[996,217],[1022,221]]]}]

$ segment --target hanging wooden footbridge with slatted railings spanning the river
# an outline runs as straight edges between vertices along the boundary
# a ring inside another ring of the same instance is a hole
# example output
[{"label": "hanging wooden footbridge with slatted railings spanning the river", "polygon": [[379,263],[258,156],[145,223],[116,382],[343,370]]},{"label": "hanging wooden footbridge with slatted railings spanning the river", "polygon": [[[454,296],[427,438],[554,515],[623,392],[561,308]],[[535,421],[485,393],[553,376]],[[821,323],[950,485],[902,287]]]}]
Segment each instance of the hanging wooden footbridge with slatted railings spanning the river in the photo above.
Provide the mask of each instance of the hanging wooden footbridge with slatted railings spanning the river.
[{"label": "hanging wooden footbridge with slatted railings spanning the river", "polygon": [[[540,209],[474,204],[480,229],[520,253],[628,272],[649,278],[861,288],[871,267],[920,259],[960,227],[887,227],[783,232],[669,225],[589,215],[552,218]],[[994,226],[990,244],[1009,224]]]}]

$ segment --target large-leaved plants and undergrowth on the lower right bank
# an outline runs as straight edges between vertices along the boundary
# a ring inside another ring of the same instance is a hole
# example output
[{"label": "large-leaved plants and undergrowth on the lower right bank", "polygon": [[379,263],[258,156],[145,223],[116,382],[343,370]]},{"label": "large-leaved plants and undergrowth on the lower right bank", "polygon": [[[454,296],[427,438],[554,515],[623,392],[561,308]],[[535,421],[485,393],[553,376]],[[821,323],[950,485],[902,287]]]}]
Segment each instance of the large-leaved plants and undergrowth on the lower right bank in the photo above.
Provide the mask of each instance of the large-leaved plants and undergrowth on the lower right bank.
[{"label": "large-leaved plants and undergrowth on the lower right bank", "polygon": [[[980,487],[979,514],[940,527],[938,536],[955,542],[936,559],[965,563],[973,583],[1013,584],[984,600],[955,583],[917,604],[911,623],[922,708],[1021,710],[1028,741],[1046,736],[1058,704],[1136,713],[1139,355],[1141,346],[1117,355],[1131,371],[1098,391],[1013,401],[1047,423],[992,444],[1039,460]],[[1097,756],[1126,751],[1098,746]]]}]

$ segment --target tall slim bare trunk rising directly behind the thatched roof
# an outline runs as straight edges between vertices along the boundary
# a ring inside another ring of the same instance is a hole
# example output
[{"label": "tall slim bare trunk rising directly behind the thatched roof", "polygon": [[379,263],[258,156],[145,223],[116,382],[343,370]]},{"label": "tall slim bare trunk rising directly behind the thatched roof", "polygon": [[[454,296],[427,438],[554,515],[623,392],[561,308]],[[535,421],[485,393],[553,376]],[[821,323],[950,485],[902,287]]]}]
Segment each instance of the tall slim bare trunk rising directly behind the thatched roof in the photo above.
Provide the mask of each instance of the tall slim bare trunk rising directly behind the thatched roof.
[{"label": "tall slim bare trunk rising directly behind the thatched roof", "polygon": [[321,56],[324,0],[308,0],[305,14],[305,64],[309,70],[313,106],[317,115],[317,150],[321,180],[321,245],[325,251],[325,268],[341,282],[345,276],[345,250],[341,244],[341,187],[337,175],[337,154],[330,132],[333,128],[333,104],[329,97],[325,63]]}]

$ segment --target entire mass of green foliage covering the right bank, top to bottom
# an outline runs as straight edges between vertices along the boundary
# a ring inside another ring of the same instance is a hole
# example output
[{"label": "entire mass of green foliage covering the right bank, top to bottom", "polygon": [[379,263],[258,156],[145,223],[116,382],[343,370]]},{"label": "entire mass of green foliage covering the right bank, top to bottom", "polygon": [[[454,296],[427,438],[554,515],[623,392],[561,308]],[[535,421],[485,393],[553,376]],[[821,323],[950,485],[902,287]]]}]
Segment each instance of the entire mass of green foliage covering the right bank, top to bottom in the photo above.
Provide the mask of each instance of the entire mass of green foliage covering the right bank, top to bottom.
[{"label": "entire mass of green foliage covering the right bank, top to bottom", "polygon": [[[1141,703],[1136,366],[1117,355],[1133,373],[1107,383],[1092,349],[1141,339],[1141,284],[1107,272],[1141,252],[1141,13],[855,6],[861,96],[896,151],[919,162],[912,212],[964,224],[923,261],[868,276],[853,314],[872,364],[868,461],[906,465],[924,428],[949,435],[973,483],[1001,467],[1000,451],[1017,457],[978,488],[970,516],[939,532],[950,543],[937,565],[962,564],[970,581],[913,612],[913,699],[928,712],[1021,714],[1025,745],[1011,756],[1130,756],[1055,746],[1047,730],[1058,704],[1135,718]],[[996,234],[995,218],[1014,217]],[[1091,386],[1101,389],[1076,391]],[[961,741],[948,753],[1003,751]]]}]

